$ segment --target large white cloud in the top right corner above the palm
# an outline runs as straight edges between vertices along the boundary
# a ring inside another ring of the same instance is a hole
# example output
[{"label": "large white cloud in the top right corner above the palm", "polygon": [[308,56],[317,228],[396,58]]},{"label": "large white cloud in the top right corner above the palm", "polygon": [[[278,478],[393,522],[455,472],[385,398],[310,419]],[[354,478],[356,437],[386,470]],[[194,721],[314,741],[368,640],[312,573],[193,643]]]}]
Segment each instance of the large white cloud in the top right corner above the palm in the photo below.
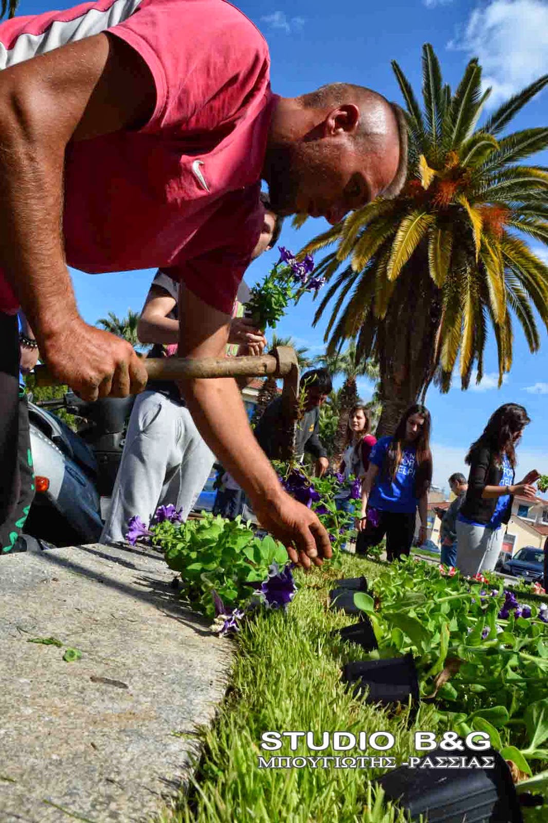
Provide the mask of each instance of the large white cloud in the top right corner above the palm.
[{"label": "large white cloud in the top right corner above the palm", "polygon": [[476,7],[449,48],[479,58],[488,105],[509,96],[548,72],[548,3],[545,0],[492,0]]}]

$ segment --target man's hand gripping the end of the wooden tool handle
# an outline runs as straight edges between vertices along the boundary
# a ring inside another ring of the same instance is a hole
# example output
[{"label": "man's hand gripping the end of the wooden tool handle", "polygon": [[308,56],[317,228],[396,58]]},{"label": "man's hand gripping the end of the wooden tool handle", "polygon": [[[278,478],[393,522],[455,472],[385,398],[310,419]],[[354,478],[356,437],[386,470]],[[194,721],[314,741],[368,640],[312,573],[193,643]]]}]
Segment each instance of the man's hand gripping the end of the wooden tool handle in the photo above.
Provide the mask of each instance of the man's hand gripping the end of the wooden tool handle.
[{"label": "man's hand gripping the end of the wooden tool handle", "polygon": [[81,318],[39,339],[39,349],[55,377],[83,400],[125,398],[146,387],[148,375],[133,346],[121,337],[88,326]]}]

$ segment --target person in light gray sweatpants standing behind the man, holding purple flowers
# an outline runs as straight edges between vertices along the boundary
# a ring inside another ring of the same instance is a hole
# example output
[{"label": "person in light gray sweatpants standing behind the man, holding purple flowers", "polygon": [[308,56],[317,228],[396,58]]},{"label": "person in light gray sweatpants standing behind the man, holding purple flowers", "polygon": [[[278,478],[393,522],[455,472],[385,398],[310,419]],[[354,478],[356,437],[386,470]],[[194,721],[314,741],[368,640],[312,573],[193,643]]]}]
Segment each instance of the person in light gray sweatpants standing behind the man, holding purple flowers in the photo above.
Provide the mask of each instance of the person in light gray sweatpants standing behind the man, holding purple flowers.
[{"label": "person in light gray sweatpants standing behind the man, holding purple flowers", "polygon": [[[281,218],[269,210],[264,195],[262,202],[267,211],[253,258],[271,248],[281,230]],[[253,328],[250,320],[239,316],[248,297],[248,286],[242,281],[233,310],[229,355],[258,355],[266,344],[262,332]],[[178,284],[165,272],[157,272],[137,327],[142,342],[155,343],[149,356],[176,354],[177,303]],[[173,504],[185,520],[214,462],[215,455],[198,432],[177,384],[149,381],[147,390],[137,396],[132,408],[100,542],[123,542],[132,517],[137,515],[148,524],[160,505]]]}]

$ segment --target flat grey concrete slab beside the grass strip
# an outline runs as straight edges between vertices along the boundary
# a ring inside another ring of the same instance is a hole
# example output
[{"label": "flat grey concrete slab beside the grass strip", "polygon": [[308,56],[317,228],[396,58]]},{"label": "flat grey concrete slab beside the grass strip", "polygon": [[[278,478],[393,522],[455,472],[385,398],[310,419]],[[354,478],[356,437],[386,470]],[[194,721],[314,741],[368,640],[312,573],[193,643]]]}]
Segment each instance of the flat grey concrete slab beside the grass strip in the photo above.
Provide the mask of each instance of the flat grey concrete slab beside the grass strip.
[{"label": "flat grey concrete slab beside the grass strip", "polygon": [[[130,546],[0,559],[2,823],[145,823],[172,804],[231,662],[173,579]],[[28,642],[47,637],[63,647]]]}]

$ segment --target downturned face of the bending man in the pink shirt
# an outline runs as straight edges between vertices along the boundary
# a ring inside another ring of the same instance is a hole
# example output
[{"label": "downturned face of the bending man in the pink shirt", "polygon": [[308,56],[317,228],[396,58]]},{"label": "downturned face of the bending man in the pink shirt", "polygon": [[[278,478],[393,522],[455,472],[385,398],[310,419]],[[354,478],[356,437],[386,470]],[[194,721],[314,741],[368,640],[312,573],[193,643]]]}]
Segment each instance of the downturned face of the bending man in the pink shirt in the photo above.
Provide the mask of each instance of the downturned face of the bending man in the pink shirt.
[{"label": "downturned face of the bending man in the pink shirt", "polygon": [[385,138],[374,144],[351,133],[278,143],[272,149],[269,194],[281,215],[323,216],[331,223],[365,206],[392,183],[397,172],[399,144]]}]

